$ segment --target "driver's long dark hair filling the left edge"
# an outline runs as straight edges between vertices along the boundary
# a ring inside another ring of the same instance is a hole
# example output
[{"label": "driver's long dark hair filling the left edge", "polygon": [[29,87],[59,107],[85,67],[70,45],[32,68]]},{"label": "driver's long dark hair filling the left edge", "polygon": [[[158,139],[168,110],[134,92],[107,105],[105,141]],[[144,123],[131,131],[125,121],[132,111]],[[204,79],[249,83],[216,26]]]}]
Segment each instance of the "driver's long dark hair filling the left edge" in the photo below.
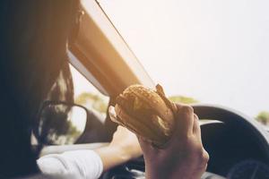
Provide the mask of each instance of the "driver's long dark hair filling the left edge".
[{"label": "driver's long dark hair filling the left edge", "polygon": [[73,100],[66,46],[78,8],[78,0],[0,2],[0,178],[39,172],[30,145],[39,107]]}]

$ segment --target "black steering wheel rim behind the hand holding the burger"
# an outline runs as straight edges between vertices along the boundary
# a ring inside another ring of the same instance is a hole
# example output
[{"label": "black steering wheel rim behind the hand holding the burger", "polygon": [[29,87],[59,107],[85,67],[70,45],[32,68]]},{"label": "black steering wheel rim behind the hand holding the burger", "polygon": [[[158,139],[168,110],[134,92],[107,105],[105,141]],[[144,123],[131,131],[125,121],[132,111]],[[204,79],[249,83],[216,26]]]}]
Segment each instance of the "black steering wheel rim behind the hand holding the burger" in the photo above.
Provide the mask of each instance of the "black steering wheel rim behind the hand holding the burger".
[{"label": "black steering wheel rim behind the hand holding the burger", "polygon": [[[239,125],[241,128],[246,128],[251,135],[254,135],[260,147],[264,150],[266,157],[269,160],[269,137],[263,127],[255,120],[246,115],[232,110],[227,107],[219,107],[213,105],[194,105],[195,114],[200,119],[218,120],[227,125]],[[203,124],[201,125],[203,128]],[[134,178],[142,179],[144,177],[144,162],[143,157],[129,161],[122,166],[117,166],[101,176],[102,179],[123,179]],[[210,172],[205,172],[202,179],[224,179],[221,175],[216,175]]]}]

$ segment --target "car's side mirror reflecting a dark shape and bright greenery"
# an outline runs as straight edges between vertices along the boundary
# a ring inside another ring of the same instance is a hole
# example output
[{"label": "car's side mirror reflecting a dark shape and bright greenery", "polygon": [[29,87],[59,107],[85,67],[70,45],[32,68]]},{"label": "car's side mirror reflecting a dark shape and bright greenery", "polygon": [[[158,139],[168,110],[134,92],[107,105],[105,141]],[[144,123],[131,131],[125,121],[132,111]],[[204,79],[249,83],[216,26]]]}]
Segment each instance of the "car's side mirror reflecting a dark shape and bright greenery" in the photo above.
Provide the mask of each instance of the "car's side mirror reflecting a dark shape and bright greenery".
[{"label": "car's side mirror reflecting a dark shape and bright greenery", "polygon": [[73,144],[84,132],[87,116],[85,107],[46,101],[33,132],[42,145]]}]

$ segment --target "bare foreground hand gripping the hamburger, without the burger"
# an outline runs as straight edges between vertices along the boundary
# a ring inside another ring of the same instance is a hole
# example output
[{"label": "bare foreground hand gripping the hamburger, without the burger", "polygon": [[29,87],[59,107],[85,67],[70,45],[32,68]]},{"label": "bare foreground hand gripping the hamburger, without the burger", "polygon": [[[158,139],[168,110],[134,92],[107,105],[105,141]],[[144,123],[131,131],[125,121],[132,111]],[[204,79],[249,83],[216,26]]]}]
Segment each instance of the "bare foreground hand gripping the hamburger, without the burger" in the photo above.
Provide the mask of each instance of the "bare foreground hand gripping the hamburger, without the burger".
[{"label": "bare foreground hand gripping the hamburger, without the burger", "polygon": [[198,120],[192,107],[177,104],[175,132],[163,149],[139,138],[147,179],[201,178],[209,155],[202,144]]}]

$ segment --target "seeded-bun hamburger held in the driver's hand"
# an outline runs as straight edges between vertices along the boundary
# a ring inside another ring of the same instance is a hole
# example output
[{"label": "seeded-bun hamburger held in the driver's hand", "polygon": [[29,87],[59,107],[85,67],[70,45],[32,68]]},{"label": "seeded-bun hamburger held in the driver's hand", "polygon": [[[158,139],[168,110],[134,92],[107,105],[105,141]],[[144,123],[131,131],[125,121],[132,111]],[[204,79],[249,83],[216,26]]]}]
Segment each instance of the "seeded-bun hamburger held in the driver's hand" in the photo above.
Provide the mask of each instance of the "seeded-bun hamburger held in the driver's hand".
[{"label": "seeded-bun hamburger held in the driver's hand", "polygon": [[156,90],[143,85],[129,86],[109,108],[112,121],[161,146],[169,140],[175,124],[176,107],[165,97],[161,85]]}]

